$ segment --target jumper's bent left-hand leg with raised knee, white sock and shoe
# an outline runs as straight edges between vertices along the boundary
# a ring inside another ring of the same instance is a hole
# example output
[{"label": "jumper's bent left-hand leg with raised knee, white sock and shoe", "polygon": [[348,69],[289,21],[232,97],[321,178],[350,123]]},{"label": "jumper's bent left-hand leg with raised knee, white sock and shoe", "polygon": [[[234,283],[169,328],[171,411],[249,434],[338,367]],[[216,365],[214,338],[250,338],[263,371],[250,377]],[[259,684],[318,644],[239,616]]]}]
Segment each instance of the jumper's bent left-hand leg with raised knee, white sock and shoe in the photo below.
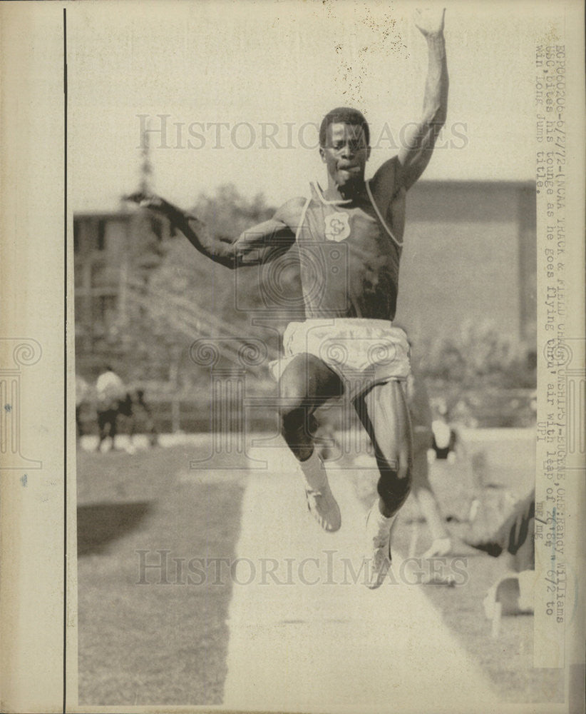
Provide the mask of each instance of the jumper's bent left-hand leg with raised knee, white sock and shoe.
[{"label": "jumper's bent left-hand leg with raised knee, white sock and shoe", "polygon": [[337,531],[341,517],[322,458],[314,448],[318,426],[314,412],[343,391],[339,376],[309,354],[295,356],[279,379],[281,433],[299,462],[309,511],[325,531]]}]

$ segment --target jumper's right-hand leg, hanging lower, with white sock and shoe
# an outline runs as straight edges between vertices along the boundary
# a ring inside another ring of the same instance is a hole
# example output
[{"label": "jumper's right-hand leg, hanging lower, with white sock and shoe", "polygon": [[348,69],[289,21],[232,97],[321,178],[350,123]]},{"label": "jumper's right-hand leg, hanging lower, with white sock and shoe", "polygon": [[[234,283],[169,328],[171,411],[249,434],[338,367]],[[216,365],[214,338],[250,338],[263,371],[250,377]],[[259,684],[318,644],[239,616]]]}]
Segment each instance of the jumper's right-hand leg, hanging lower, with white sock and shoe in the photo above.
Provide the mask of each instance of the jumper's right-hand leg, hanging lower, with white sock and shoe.
[{"label": "jumper's right-hand leg, hanging lower, with white sock and shoe", "polygon": [[411,420],[401,383],[391,380],[354,401],[379,467],[379,498],[366,519],[366,585],[378,588],[391,565],[391,527],[411,488]]}]

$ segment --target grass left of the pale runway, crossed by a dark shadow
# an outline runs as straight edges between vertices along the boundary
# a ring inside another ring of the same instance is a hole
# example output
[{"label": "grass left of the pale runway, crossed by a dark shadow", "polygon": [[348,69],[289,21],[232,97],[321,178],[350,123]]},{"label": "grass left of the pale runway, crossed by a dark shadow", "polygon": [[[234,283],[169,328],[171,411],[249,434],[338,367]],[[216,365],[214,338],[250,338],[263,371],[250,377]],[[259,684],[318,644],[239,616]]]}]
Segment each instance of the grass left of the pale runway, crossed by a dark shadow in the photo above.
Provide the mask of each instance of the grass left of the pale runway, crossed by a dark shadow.
[{"label": "grass left of the pale runway, crossed by a dark shadow", "polygon": [[[243,484],[182,483],[181,447],[78,453],[79,701],[222,701],[230,583],[187,585],[171,558],[230,557]],[[145,570],[170,550],[168,571]],[[158,584],[167,580],[169,584]]]}]

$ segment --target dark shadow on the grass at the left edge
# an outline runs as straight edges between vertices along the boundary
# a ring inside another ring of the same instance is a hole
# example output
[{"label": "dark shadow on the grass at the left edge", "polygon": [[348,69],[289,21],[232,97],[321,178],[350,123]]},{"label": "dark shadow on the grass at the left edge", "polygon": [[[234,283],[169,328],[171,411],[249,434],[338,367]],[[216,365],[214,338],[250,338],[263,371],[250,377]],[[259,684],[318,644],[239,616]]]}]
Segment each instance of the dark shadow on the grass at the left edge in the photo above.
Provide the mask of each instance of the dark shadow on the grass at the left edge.
[{"label": "dark shadow on the grass at the left edge", "polygon": [[77,554],[103,553],[113,540],[136,528],[150,511],[148,501],[91,503],[77,508]]}]

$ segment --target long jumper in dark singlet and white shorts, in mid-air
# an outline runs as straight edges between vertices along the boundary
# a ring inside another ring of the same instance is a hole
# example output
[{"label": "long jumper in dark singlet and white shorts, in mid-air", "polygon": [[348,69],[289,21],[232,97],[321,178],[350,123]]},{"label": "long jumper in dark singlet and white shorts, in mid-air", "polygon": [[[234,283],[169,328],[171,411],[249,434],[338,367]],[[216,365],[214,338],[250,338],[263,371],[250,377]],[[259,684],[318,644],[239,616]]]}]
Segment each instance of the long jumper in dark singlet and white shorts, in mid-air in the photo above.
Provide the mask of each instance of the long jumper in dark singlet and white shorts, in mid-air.
[{"label": "long jumper in dark singlet and white shorts, in mid-air", "polygon": [[319,131],[327,187],[312,184],[309,199],[293,198],[274,217],[221,241],[163,198],[130,200],[163,213],[200,253],[228,268],[268,263],[294,244],[304,293],[305,321],[284,333],[276,366],[282,436],[299,462],[309,510],[326,531],[341,518],[314,449],[314,411],[344,394],[359,414],[379,466],[379,498],[366,525],[368,585],[376,588],[391,563],[391,525],[411,484],[411,425],[401,381],[409,373],[408,345],[391,321],[396,311],[405,196],[426,168],[446,121],[448,71],[443,11],[416,12],[428,44],[421,121],[398,156],[365,181],[369,126],[355,109],[330,111]]}]

